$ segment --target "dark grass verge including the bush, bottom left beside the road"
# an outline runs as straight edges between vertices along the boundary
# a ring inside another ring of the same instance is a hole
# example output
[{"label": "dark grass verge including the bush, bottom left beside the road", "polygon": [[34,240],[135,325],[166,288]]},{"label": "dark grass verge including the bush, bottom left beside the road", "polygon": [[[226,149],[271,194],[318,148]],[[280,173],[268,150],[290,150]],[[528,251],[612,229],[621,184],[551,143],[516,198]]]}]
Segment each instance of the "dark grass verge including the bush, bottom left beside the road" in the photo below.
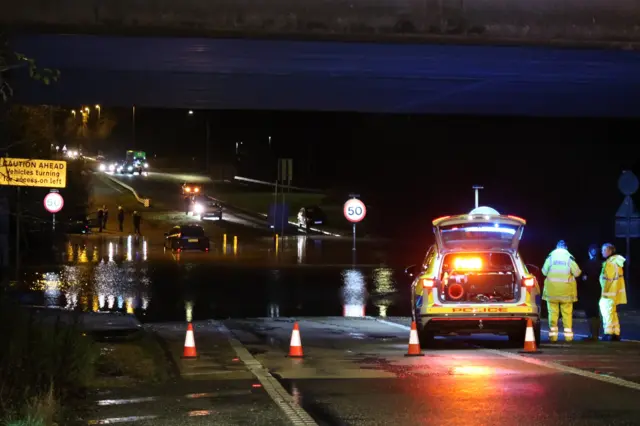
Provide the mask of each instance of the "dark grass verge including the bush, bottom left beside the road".
[{"label": "dark grass verge including the bush, bottom left beside the road", "polygon": [[0,424],[69,424],[98,387],[162,383],[169,361],[155,335],[97,342],[72,321],[41,316],[8,299],[0,301]]}]

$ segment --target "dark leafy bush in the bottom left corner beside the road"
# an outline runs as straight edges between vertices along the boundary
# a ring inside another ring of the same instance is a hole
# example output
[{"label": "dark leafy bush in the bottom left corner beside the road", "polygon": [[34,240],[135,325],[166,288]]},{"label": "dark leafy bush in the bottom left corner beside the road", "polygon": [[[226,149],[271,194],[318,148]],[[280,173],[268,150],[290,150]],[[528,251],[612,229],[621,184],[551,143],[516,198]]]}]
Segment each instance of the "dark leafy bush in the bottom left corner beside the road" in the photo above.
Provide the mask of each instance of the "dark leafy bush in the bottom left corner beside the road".
[{"label": "dark leafy bush in the bottom left corner beside the road", "polygon": [[[54,424],[58,403],[93,377],[97,352],[77,327],[0,302],[0,422]],[[11,420],[21,419],[21,420]]]}]

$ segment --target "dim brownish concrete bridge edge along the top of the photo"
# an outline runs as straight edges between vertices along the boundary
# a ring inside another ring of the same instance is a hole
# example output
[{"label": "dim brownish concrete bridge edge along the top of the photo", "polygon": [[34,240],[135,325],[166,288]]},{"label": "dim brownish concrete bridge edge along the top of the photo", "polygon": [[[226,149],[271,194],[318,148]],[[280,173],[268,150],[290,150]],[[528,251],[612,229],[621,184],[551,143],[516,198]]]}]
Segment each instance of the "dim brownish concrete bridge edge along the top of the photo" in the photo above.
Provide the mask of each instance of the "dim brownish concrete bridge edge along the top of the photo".
[{"label": "dim brownish concrete bridge edge along the top of the photo", "polygon": [[640,41],[638,0],[0,0],[1,26],[147,35]]}]

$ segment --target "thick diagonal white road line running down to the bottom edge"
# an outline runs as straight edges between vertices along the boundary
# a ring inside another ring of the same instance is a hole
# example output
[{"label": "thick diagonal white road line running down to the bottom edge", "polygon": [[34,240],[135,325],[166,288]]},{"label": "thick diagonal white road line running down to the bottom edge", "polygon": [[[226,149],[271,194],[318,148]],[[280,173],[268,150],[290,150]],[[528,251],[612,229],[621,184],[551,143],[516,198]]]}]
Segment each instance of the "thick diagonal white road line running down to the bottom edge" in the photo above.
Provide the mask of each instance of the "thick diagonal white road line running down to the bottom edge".
[{"label": "thick diagonal white road line running down to the bottom edge", "polygon": [[256,376],[264,390],[267,391],[267,394],[269,394],[273,402],[282,409],[291,423],[295,426],[318,426],[309,413],[295,402],[294,398],[289,395],[276,378],[273,377],[271,373],[269,373],[269,371],[249,353],[247,348],[245,348],[238,339],[233,337],[231,331],[229,331],[224,324],[214,322],[212,322],[212,324],[215,324],[227,336],[229,343],[238,355],[238,358],[240,358],[249,371]]}]

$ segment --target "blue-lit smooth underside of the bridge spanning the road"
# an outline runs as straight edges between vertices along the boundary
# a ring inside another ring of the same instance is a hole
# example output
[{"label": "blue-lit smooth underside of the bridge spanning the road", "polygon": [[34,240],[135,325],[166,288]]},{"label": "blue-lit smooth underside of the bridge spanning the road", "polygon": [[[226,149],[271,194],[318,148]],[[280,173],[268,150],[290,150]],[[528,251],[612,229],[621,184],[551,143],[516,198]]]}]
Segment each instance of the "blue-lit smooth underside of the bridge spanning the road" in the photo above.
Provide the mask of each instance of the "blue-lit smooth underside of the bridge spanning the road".
[{"label": "blue-lit smooth underside of the bridge spanning the road", "polygon": [[543,116],[640,115],[633,52],[525,47],[30,35],[61,70],[13,76],[17,102],[77,106]]}]

